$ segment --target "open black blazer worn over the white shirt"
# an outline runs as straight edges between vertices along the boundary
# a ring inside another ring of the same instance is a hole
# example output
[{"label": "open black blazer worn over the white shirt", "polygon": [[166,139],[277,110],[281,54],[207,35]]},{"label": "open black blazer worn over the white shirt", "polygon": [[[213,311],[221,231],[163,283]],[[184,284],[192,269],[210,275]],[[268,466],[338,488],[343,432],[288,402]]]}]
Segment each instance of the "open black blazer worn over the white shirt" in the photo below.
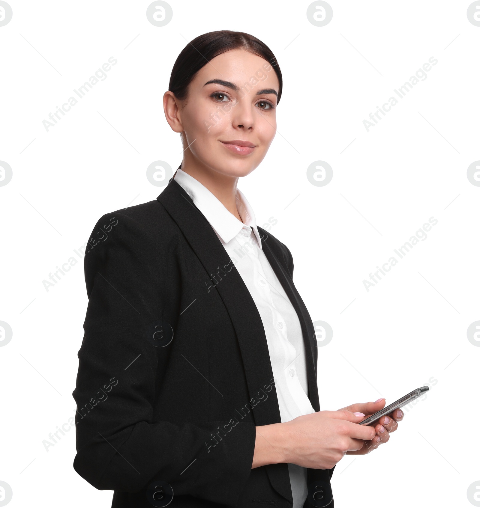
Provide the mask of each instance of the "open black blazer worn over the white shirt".
[{"label": "open black blazer worn over the white shirt", "polygon": [[[290,251],[258,229],[298,312],[308,396],[319,411],[315,332],[292,281]],[[251,469],[255,426],[281,421],[260,315],[175,180],[157,200],[100,218],[85,252],[85,281],[73,392],[78,474],[114,490],[114,508],[163,506],[168,485],[172,507],[291,507],[287,464]],[[308,469],[313,506],[331,499],[332,473]]]}]

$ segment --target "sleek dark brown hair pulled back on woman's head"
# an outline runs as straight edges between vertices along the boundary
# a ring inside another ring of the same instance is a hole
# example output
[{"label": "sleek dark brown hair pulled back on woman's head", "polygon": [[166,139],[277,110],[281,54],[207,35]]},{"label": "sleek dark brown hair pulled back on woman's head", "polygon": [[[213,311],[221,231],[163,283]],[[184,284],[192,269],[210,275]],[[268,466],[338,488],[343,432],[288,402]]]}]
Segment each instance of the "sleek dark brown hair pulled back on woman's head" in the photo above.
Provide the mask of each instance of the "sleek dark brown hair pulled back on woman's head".
[{"label": "sleek dark brown hair pulled back on woman's head", "polygon": [[282,96],[282,73],[272,50],[253,35],[232,30],[208,32],[189,42],[175,60],[168,90],[177,99],[186,99],[195,74],[210,60],[232,49],[245,49],[272,65],[279,82],[278,104]]}]

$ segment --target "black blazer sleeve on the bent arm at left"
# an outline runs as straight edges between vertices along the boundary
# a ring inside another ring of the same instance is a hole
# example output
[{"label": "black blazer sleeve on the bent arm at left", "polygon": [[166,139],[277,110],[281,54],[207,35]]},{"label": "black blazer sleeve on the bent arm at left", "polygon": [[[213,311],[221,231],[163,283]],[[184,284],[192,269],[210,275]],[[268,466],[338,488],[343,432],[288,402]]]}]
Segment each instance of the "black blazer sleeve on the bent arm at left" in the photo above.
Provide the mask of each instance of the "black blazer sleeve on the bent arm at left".
[{"label": "black blazer sleeve on the bent arm at left", "polygon": [[[234,506],[251,472],[255,425],[239,422],[213,453],[205,443],[228,421],[153,419],[155,395],[168,374],[159,371],[160,348],[146,336],[173,296],[163,245],[169,240],[152,238],[136,220],[115,212],[101,217],[87,245],[73,466],[100,490],[133,493],[162,480],[175,495]],[[187,468],[195,459],[200,466]]]}]

